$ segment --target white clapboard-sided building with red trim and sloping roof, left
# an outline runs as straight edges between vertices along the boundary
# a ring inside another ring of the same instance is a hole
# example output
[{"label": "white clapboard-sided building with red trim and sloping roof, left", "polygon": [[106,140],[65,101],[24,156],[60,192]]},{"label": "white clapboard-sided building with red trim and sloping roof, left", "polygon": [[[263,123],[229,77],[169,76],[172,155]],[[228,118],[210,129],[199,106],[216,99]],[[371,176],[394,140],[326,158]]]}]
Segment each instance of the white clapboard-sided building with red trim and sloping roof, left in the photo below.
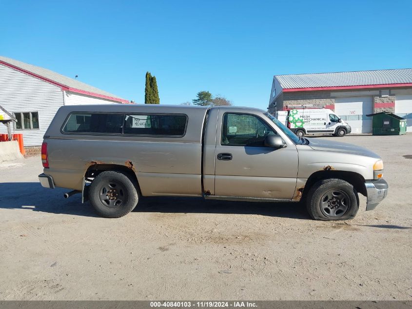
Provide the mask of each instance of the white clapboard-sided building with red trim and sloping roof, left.
[{"label": "white clapboard-sided building with red trim and sloping roof, left", "polygon": [[[51,70],[0,56],[0,105],[18,119],[25,146],[41,145],[60,106],[129,103],[128,100]],[[0,133],[7,133],[0,124]]]}]

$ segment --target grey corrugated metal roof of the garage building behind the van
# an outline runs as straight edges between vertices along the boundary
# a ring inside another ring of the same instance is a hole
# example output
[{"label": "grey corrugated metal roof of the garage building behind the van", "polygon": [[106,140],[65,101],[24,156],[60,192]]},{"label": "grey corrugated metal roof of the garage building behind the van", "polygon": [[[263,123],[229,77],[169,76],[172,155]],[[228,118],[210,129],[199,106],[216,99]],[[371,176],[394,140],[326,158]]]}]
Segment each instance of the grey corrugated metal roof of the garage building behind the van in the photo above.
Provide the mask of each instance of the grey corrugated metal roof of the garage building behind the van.
[{"label": "grey corrugated metal roof of the garage building behind the van", "polygon": [[412,69],[275,75],[275,79],[283,89],[391,85],[412,83]]}]

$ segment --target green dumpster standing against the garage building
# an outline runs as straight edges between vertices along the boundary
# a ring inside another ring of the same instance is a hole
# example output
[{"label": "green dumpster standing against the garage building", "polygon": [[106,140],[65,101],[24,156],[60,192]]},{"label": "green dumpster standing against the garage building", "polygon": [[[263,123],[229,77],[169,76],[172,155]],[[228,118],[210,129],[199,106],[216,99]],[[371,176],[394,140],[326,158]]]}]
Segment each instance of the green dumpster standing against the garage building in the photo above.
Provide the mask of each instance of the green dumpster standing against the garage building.
[{"label": "green dumpster standing against the garage building", "polygon": [[406,119],[391,112],[366,116],[372,117],[372,135],[401,135],[406,133]]}]

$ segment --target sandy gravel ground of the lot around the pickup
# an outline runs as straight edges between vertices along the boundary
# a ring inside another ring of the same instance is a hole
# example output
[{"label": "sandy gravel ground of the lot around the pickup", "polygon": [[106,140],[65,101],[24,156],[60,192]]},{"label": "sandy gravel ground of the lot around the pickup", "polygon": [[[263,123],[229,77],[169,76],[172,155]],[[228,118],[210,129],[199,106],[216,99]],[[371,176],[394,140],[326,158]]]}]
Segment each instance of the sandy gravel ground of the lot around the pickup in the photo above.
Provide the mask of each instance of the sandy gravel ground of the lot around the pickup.
[{"label": "sandy gravel ground of the lot around the pickup", "polygon": [[373,149],[389,195],[355,219],[298,204],[143,198],[103,219],[42,188],[39,156],[1,164],[1,300],[412,300],[412,134],[330,138]]}]

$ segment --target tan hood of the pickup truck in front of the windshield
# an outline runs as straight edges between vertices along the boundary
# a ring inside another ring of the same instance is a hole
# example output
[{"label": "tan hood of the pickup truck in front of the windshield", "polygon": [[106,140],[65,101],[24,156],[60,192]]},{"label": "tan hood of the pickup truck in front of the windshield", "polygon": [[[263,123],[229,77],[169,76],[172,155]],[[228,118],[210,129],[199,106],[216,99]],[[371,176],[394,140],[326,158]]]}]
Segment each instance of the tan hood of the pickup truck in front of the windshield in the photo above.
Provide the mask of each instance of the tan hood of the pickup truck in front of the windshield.
[{"label": "tan hood of the pickup truck in front of the windshield", "polygon": [[357,145],[328,141],[322,138],[309,138],[308,140],[309,146],[314,150],[351,153],[380,159],[380,157],[373,151]]}]

